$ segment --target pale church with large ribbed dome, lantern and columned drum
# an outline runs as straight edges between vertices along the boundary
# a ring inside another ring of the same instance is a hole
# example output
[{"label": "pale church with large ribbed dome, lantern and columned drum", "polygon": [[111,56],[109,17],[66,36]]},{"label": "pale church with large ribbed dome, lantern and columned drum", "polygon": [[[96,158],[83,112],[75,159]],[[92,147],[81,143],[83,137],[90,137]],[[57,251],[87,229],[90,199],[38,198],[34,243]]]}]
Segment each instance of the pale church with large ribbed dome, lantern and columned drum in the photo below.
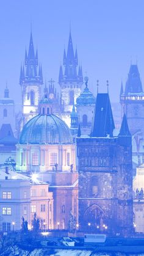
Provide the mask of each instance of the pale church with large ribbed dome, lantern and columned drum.
[{"label": "pale church with large ribbed dome, lantern and columned drum", "polygon": [[45,94],[39,104],[39,114],[24,125],[16,145],[16,170],[37,174],[41,181],[49,184],[54,200],[51,227],[74,229],[78,211],[76,148],[67,124],[52,114],[52,108],[52,99]]}]

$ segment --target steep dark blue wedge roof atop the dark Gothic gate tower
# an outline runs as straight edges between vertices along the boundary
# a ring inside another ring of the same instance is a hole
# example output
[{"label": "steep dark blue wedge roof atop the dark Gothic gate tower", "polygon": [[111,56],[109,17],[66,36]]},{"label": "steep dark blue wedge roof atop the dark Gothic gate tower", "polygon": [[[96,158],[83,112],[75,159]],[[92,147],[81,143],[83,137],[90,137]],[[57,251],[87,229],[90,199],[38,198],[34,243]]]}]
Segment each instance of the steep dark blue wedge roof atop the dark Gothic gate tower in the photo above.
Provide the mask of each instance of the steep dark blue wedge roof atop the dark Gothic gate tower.
[{"label": "steep dark blue wedge roof atop the dark Gothic gate tower", "polygon": [[113,136],[115,124],[108,93],[98,93],[96,97],[95,117],[93,122],[92,137]]}]

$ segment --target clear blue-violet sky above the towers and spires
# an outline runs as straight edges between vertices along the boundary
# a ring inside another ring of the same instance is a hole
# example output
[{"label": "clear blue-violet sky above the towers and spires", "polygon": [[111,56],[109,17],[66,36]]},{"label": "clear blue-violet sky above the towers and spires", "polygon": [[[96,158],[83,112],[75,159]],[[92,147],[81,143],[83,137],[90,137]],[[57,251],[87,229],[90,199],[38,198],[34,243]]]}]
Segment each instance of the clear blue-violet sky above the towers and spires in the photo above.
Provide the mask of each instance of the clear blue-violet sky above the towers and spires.
[{"label": "clear blue-violet sky above the towers and spires", "polygon": [[83,75],[96,94],[109,93],[119,101],[121,79],[125,85],[129,67],[138,64],[144,81],[143,0],[1,0],[0,9],[0,98],[7,85],[16,110],[21,106],[20,65],[28,49],[32,26],[35,49],[43,78],[54,79],[59,88],[59,67],[67,49],[71,24]]}]

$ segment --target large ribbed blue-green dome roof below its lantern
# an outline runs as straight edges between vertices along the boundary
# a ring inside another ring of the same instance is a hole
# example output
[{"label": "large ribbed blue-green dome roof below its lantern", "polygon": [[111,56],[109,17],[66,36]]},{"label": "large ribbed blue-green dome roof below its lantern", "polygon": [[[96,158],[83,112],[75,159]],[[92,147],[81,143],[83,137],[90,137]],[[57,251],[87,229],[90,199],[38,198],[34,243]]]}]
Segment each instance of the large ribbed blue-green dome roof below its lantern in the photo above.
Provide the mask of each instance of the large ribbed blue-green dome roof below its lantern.
[{"label": "large ribbed blue-green dome roof below its lantern", "polygon": [[36,115],[24,125],[20,144],[72,144],[70,130],[56,115]]}]

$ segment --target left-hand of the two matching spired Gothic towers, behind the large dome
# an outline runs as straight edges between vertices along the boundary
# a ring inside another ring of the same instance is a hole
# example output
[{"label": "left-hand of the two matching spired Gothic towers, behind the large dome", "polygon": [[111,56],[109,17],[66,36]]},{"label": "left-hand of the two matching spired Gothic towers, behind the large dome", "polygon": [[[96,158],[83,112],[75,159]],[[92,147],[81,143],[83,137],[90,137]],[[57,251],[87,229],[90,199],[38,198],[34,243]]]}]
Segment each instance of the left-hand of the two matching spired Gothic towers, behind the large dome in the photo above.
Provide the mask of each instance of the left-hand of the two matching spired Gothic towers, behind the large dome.
[{"label": "left-hand of the two matching spired Gothic towers, behind the large dome", "polygon": [[[25,68],[24,68],[25,66]],[[43,84],[42,68],[38,67],[38,52],[34,51],[34,43],[32,40],[32,32],[29,43],[29,52],[25,53],[25,60],[23,67],[20,71],[20,85],[22,90],[22,120],[21,128],[23,125],[34,115],[38,114],[38,102],[41,98],[41,85]]]}]

